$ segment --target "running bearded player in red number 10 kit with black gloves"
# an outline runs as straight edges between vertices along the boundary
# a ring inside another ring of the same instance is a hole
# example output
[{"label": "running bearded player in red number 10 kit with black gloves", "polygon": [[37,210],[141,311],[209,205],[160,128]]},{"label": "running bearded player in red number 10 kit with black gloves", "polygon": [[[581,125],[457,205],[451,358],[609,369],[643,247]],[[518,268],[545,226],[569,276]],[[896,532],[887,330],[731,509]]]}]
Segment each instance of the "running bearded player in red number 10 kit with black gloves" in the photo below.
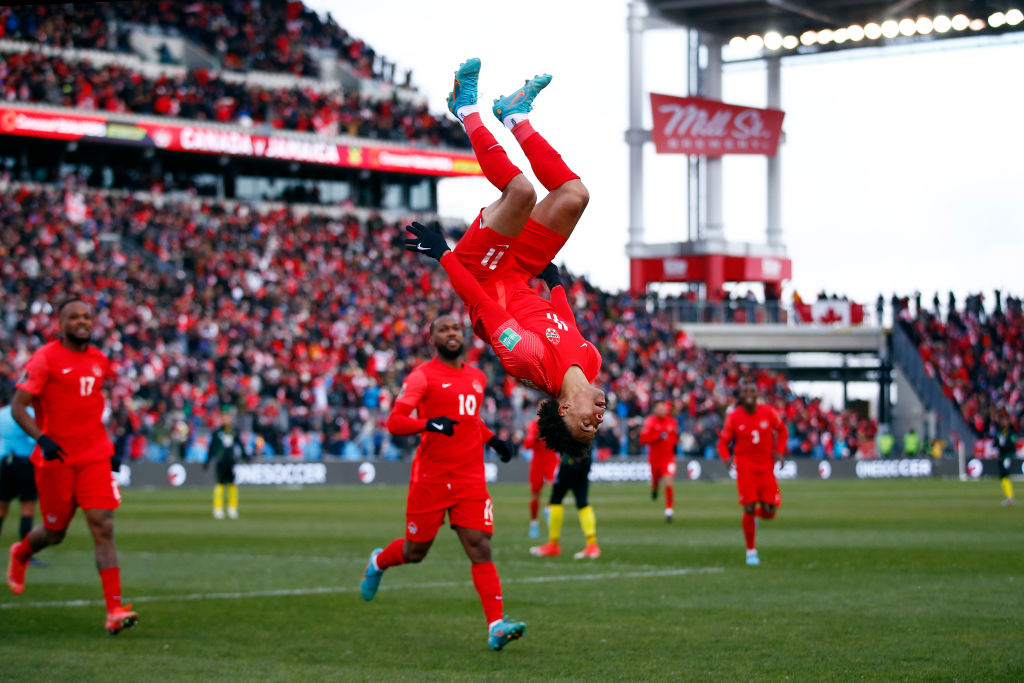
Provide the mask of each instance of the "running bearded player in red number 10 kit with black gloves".
[{"label": "running bearded player in red number 10 kit with black gloves", "polygon": [[495,514],[483,475],[483,444],[506,462],[512,451],[478,417],[486,379],[462,361],[462,329],[453,316],[431,324],[430,343],[437,356],[409,374],[387,420],[392,434],[423,434],[409,476],[406,536],[371,553],[359,589],[364,600],[373,600],[385,569],[423,561],[447,513],[472,563],[487,644],[500,650],[521,638],[526,625],[502,614],[501,580],[490,559]]}]

